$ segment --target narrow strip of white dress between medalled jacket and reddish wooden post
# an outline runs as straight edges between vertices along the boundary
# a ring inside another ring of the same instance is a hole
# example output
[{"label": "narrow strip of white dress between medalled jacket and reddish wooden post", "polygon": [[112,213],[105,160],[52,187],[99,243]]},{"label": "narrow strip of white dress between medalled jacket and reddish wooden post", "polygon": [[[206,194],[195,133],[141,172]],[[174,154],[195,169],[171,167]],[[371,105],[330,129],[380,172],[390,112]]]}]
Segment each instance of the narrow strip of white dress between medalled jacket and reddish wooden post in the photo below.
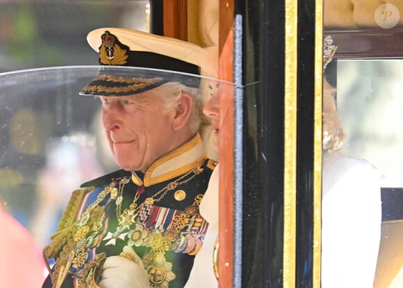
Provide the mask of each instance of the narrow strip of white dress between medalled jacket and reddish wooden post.
[{"label": "narrow strip of white dress between medalled jacket and reddish wooden post", "polygon": [[217,165],[208,182],[208,188],[200,204],[200,214],[208,222],[203,246],[195,257],[186,288],[215,288],[218,287],[213,268],[213,250],[218,237],[218,179]]}]

